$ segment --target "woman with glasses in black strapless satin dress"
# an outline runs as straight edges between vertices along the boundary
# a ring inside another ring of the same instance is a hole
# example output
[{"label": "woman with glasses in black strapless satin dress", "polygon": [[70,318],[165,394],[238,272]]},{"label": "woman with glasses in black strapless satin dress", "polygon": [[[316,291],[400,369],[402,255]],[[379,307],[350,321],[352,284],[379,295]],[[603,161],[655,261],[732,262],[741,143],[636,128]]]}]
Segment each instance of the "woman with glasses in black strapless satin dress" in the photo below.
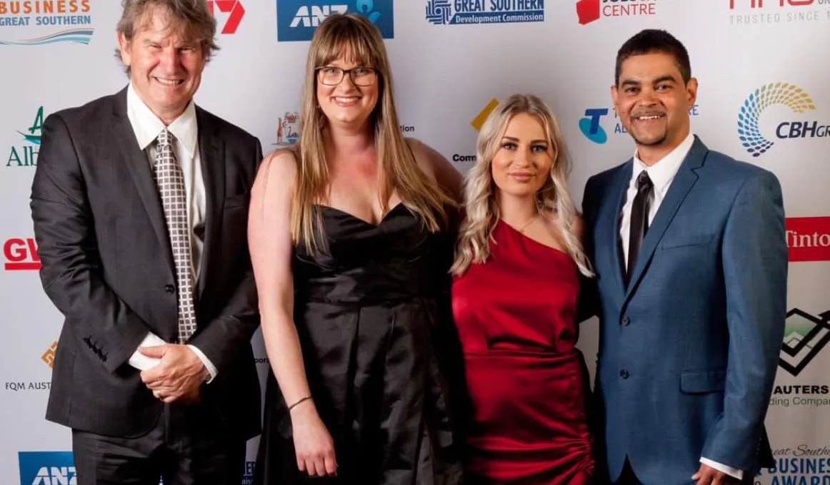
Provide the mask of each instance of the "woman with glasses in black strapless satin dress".
[{"label": "woman with glasses in black strapless satin dress", "polygon": [[431,332],[461,175],[403,138],[392,95],[377,28],[326,18],[299,148],[267,157],[251,191],[271,361],[255,483],[460,482]]}]

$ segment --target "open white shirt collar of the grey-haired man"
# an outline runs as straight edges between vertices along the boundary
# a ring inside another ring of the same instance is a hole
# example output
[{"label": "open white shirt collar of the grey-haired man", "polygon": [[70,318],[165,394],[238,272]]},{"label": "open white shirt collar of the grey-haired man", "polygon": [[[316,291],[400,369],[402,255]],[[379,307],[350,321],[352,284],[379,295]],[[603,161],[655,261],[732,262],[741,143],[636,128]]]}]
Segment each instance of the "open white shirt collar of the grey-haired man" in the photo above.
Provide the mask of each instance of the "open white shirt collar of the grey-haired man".
[{"label": "open white shirt collar of the grey-haired man", "polygon": [[[164,129],[164,123],[139,98],[132,82],[129,83],[127,89],[127,118],[129,118],[129,123],[133,126],[135,138],[138,140],[139,147],[142,150],[147,148],[150,143],[153,143],[159,137],[161,130]],[[170,133],[173,133],[173,137],[188,152],[188,155],[193,157],[193,154],[196,153],[196,143],[198,141],[196,105],[193,103],[193,100],[184,109],[184,113],[177,119],[174,119],[173,123],[167,129]]]}]

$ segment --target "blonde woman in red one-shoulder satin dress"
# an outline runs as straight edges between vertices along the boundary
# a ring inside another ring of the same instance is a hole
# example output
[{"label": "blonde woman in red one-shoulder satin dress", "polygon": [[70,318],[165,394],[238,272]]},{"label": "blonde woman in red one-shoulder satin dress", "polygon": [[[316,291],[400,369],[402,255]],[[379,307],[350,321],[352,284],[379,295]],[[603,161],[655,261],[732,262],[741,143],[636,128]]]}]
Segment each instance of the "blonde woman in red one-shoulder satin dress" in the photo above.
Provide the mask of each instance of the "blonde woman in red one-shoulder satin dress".
[{"label": "blonde woman in red one-shoulder satin dress", "polygon": [[452,267],[471,483],[591,483],[588,375],[575,347],[593,277],[550,109],[514,95],[486,120]]}]

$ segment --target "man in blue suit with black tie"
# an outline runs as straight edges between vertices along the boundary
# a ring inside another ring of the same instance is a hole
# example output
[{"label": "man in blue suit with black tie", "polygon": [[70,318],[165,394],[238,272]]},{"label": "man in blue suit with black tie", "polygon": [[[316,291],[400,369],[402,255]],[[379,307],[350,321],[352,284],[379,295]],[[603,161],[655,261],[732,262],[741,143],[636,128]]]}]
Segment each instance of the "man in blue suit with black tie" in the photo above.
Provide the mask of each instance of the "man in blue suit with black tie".
[{"label": "man in blue suit with black tie", "polygon": [[784,337],[781,189],[690,133],[686,48],[647,30],[618,52],[611,94],[637,145],[591,177],[600,464],[613,483],[751,483]]}]

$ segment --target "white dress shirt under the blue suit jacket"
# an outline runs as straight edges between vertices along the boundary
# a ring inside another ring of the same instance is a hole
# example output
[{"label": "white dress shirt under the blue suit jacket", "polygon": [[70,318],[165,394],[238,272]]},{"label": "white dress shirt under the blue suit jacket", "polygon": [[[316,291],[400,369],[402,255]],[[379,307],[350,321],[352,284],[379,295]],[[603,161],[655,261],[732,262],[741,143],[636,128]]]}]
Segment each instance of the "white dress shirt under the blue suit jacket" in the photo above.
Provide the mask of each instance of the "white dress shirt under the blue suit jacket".
[{"label": "white dress shirt under the blue suit jacket", "polygon": [[[648,177],[652,179],[652,184],[654,186],[654,190],[652,191],[652,195],[649,197],[648,206],[648,226],[652,225],[652,221],[654,221],[654,216],[657,214],[657,209],[660,208],[660,204],[662,204],[663,199],[666,198],[666,193],[669,192],[669,187],[671,186],[671,181],[674,180],[674,177],[677,173],[677,170],[680,168],[681,163],[686,158],[686,155],[691,150],[691,146],[695,143],[695,135],[689,133],[688,136],[681,142],[681,144],[677,145],[677,148],[671,151],[666,157],[654,162],[651,167],[648,167],[645,163],[637,157],[637,153],[634,153],[634,164],[632,167],[632,174],[631,174],[631,181],[628,182],[628,190],[626,192],[626,201],[625,205],[623,206],[623,213],[620,215],[620,240],[623,243],[623,258],[626,262],[626,267],[628,265],[628,240],[629,235],[631,234],[631,208],[634,204],[634,196],[637,196],[637,177],[639,177],[640,172],[646,171],[648,173]],[[722,463],[713,462],[708,458],[701,457],[701,463],[704,463],[711,468],[715,468],[716,470],[720,470],[723,473],[731,475],[732,477],[738,478],[739,480],[743,478],[744,471],[738,468],[731,468]]]}]

